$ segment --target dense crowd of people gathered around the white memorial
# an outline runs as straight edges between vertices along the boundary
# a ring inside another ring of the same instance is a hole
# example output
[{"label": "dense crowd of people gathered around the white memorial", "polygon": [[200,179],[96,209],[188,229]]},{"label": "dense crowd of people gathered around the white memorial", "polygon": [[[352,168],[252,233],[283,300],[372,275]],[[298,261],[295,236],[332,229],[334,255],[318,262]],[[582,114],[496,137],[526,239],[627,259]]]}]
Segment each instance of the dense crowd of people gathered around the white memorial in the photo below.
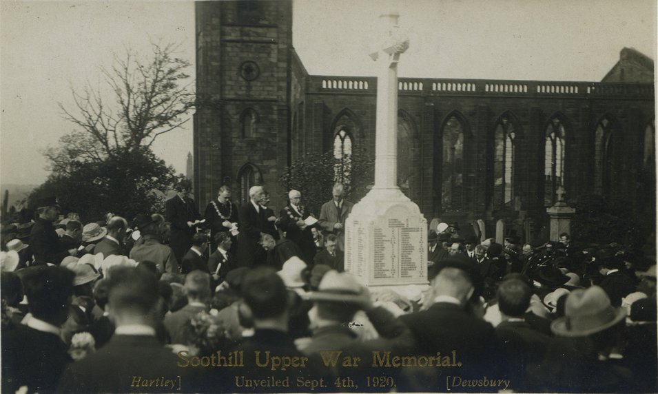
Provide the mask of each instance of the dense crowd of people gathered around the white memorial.
[{"label": "dense crowd of people gathered around the white memorial", "polygon": [[429,231],[429,286],[345,271],[353,204],[318,218],[263,187],[203,216],[182,182],[164,214],[3,223],[3,392],[656,392],[655,261],[624,245],[500,245]]}]

